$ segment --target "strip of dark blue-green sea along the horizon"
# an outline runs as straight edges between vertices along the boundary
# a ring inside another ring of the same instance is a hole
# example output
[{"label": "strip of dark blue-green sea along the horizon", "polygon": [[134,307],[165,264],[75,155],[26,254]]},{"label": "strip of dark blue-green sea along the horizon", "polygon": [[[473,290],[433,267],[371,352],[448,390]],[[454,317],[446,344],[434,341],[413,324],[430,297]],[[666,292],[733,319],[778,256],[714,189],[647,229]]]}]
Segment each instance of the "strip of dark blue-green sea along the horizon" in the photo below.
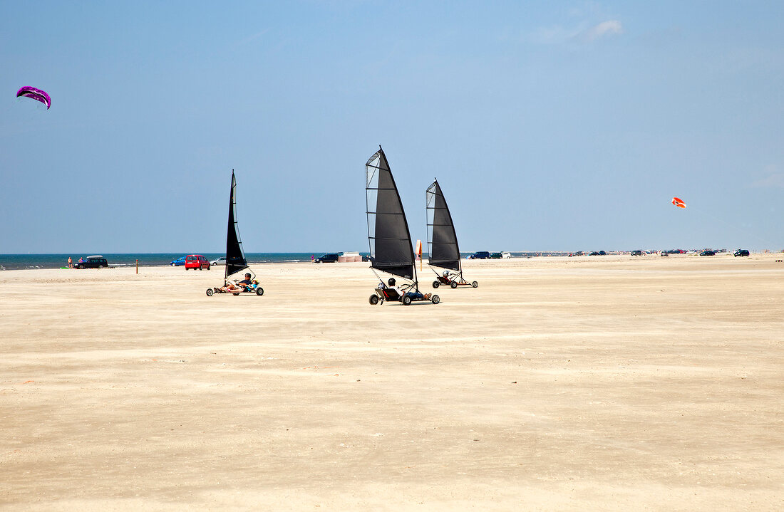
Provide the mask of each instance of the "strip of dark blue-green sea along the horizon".
[{"label": "strip of dark blue-green sea along the horizon", "polygon": [[[102,254],[107,259],[109,266],[112,267],[132,267],[136,265],[136,260],[139,260],[140,267],[157,267],[161,265],[169,265],[171,261],[183,257],[188,253],[121,253],[121,254]],[[209,261],[216,260],[223,253],[201,253]],[[318,258],[324,254],[322,251],[318,252],[251,252],[245,253],[245,259],[249,265],[258,265],[262,263],[298,263],[300,261],[311,261],[312,258]],[[368,253],[361,252],[362,256],[367,256]],[[460,257],[466,258],[473,252],[461,252]],[[561,256],[568,253],[561,252],[513,252],[513,258],[532,258],[534,256]],[[68,257],[75,262],[79,258],[86,258],[93,254],[0,254],[0,270],[24,270],[24,269],[60,269],[61,267],[68,266]],[[427,258],[428,254],[422,255]]]}]

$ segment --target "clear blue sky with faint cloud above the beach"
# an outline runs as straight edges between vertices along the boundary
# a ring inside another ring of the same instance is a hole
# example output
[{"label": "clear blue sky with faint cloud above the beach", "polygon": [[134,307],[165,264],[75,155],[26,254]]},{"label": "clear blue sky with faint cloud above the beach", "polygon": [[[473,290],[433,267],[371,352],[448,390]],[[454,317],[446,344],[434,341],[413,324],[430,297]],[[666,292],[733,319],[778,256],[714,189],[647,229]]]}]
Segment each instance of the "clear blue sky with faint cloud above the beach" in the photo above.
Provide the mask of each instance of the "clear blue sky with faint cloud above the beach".
[{"label": "clear blue sky with faint cloud above the beach", "polygon": [[[0,254],[784,249],[784,2],[0,0]],[[16,99],[31,85],[52,107]],[[681,197],[686,209],[670,204]]]}]

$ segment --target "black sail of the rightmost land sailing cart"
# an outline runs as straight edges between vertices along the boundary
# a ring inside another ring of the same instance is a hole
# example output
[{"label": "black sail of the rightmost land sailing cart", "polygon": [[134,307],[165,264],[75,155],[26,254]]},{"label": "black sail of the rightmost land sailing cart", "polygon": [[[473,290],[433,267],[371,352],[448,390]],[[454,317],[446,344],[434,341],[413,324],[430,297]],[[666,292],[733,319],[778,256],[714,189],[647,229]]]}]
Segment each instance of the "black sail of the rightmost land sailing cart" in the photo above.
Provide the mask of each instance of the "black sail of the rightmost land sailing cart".
[{"label": "black sail of the rightmost land sailing cart", "polygon": [[438,180],[427,187],[425,192],[427,207],[427,244],[430,249],[430,265],[442,269],[460,270],[460,249],[457,247],[457,233],[452,222],[452,214],[438,186]]}]

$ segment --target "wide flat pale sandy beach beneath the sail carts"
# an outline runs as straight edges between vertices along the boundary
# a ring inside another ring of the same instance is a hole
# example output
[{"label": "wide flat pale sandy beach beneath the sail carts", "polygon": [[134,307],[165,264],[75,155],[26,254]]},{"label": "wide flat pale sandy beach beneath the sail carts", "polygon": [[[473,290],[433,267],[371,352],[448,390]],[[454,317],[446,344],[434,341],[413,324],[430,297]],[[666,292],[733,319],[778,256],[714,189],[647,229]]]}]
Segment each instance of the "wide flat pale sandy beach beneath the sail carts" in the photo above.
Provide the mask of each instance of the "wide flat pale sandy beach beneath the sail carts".
[{"label": "wide flat pale sandy beach beneath the sail carts", "polygon": [[0,272],[0,509],[782,510],[775,259]]}]

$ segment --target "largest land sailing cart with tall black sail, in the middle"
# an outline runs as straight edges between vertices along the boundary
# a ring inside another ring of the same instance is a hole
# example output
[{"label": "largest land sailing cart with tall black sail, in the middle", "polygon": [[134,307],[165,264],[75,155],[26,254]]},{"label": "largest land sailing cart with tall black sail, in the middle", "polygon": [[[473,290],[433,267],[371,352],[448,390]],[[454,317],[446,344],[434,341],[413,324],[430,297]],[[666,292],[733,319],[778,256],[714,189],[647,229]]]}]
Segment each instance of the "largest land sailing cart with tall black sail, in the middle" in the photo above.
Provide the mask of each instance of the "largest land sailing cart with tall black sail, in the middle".
[{"label": "largest land sailing cart with tall black sail, in the middle", "polygon": [[[365,195],[370,268],[380,282],[368,300],[370,304],[383,304],[384,301],[397,301],[403,305],[416,301],[438,304],[441,299],[436,294],[419,291],[411,233],[387,155],[381,146],[365,164]],[[390,286],[386,287],[376,270],[406,279],[408,283],[394,287],[396,282],[391,278]]]}]

